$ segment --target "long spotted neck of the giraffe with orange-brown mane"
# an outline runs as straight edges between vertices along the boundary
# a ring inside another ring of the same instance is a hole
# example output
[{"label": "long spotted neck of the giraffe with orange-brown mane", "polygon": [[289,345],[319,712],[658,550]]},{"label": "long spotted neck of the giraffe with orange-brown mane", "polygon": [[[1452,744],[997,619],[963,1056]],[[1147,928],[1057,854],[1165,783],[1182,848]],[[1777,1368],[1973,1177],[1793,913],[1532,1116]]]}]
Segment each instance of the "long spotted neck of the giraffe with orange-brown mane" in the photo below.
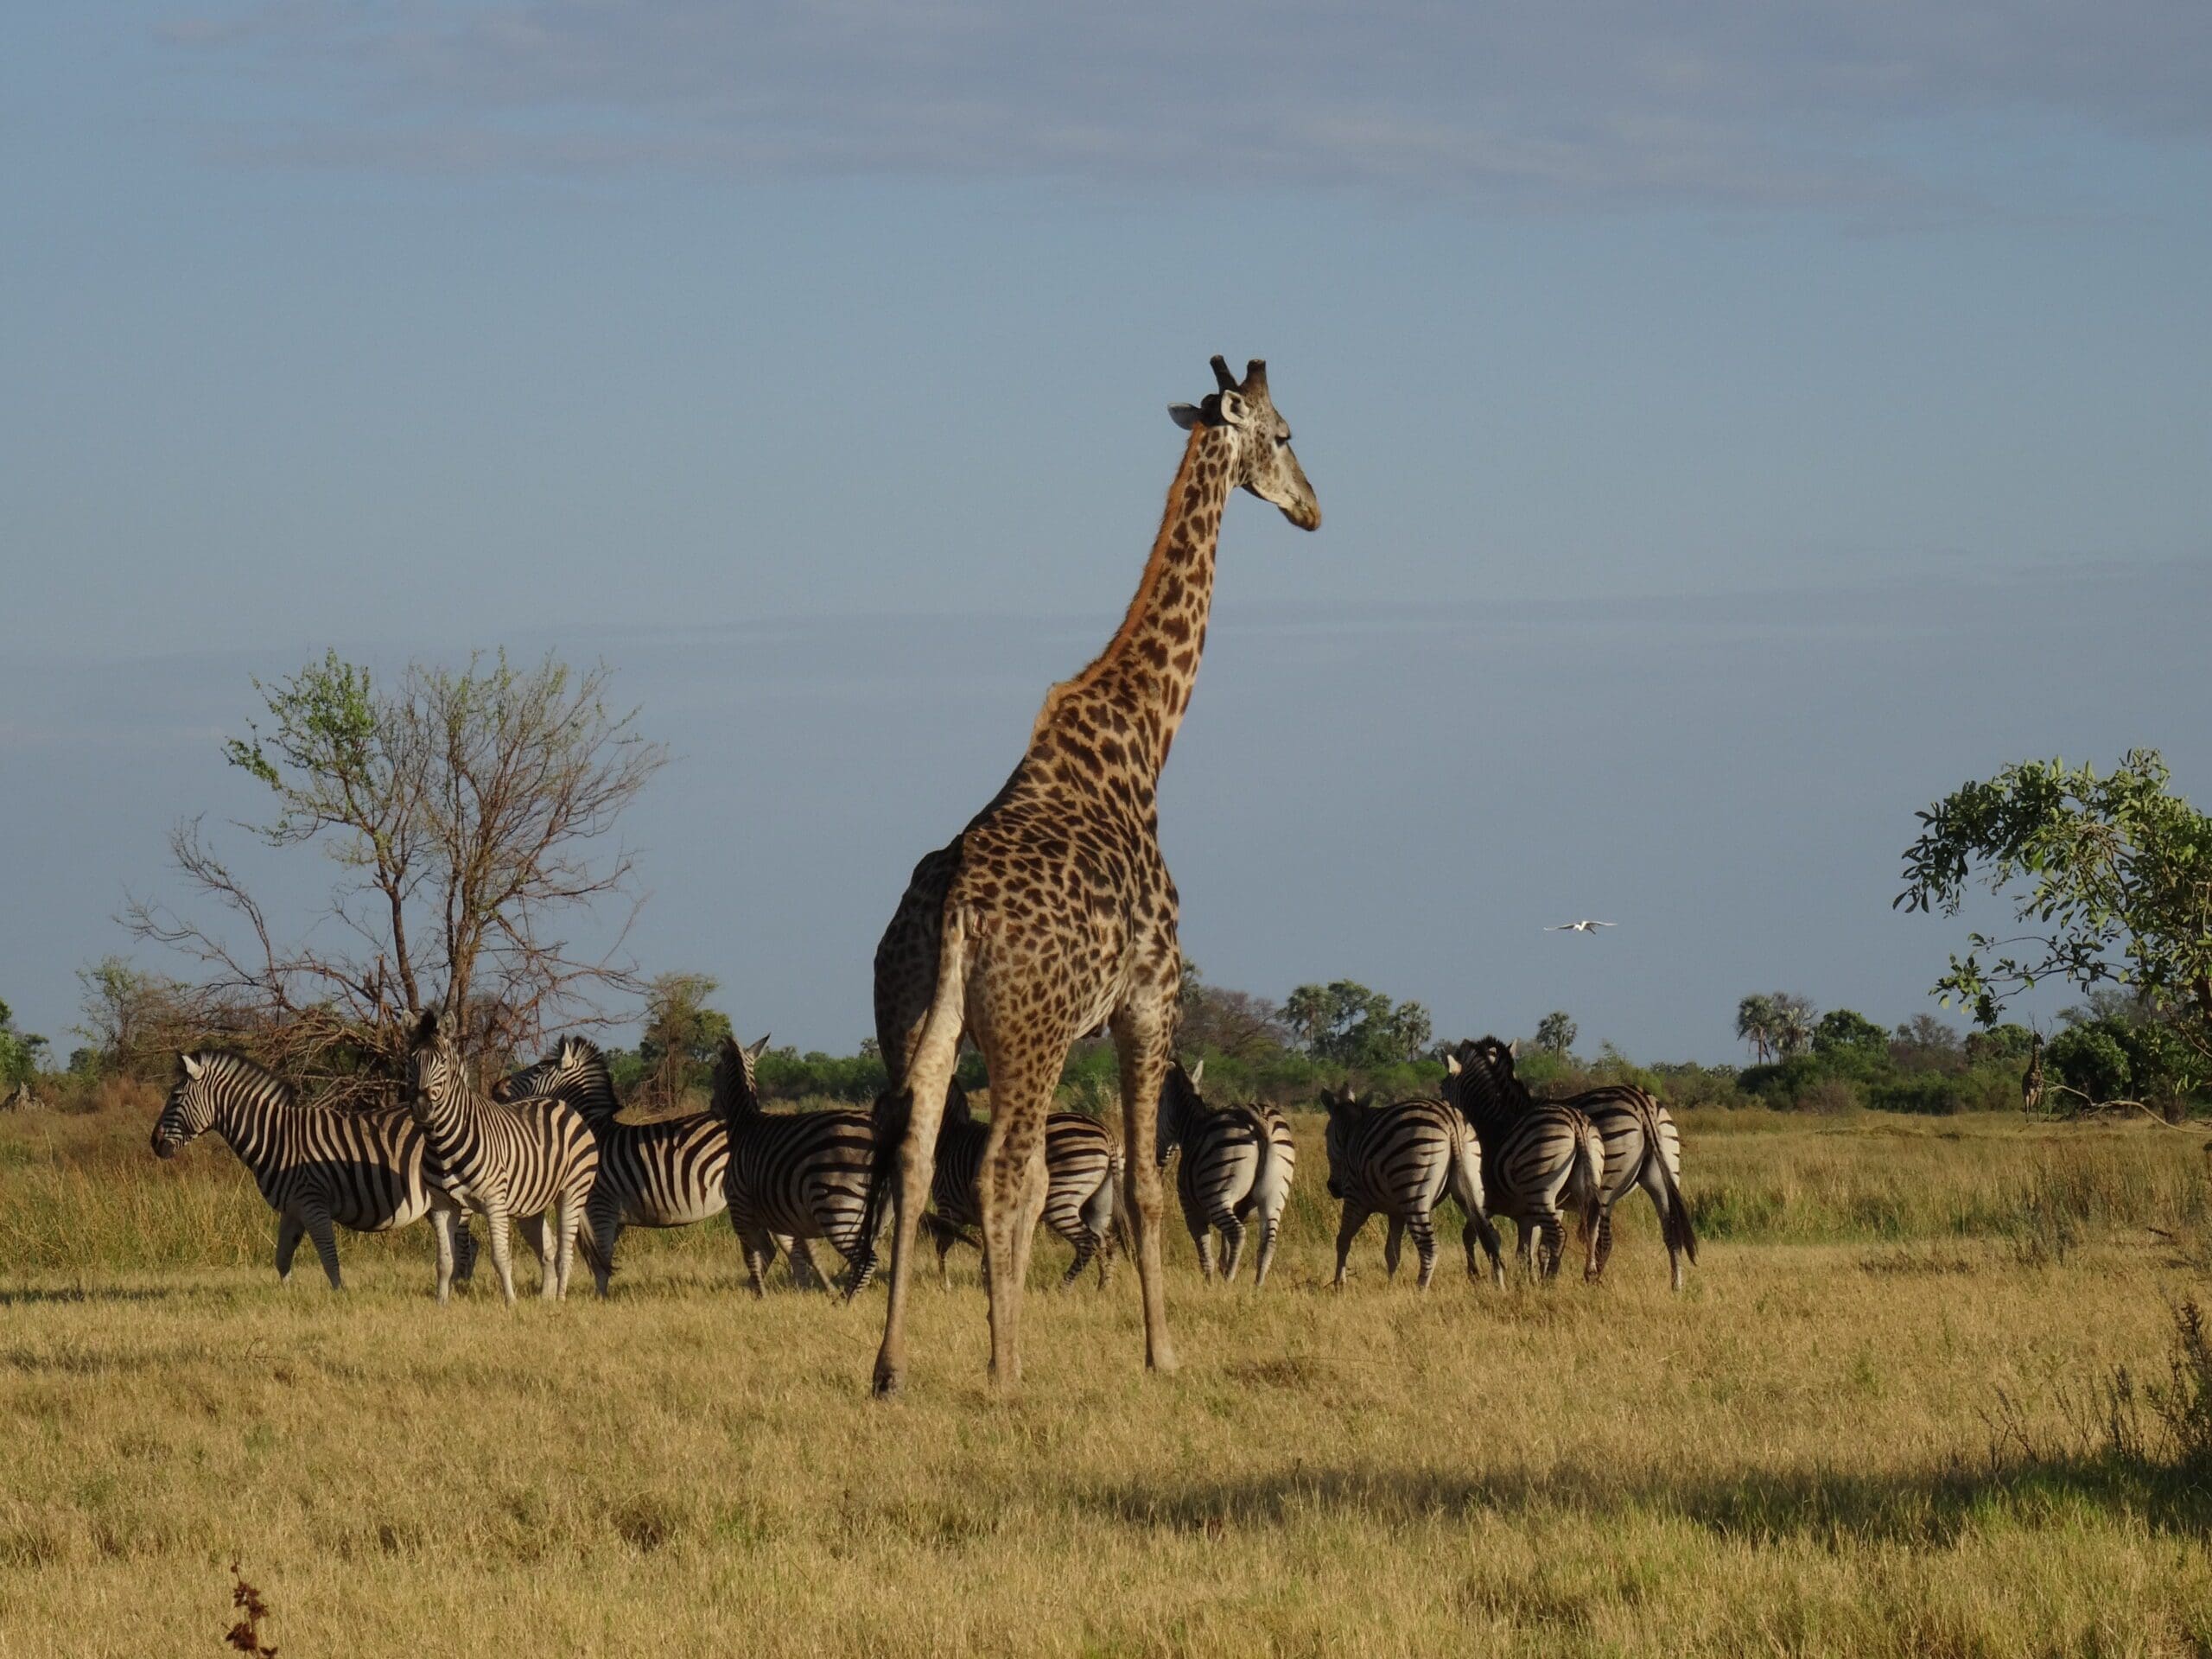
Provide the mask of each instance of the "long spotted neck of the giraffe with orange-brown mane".
[{"label": "long spotted neck of the giraffe with orange-brown mane", "polygon": [[[1137,752],[1130,759],[1152,774],[1166,763],[1183,723],[1206,650],[1214,544],[1234,476],[1234,442],[1225,427],[1192,429],[1121,628],[1084,672],[1060,688],[1106,697],[1133,714]],[[1051,721],[1057,701],[1046,703],[1040,726]]]}]

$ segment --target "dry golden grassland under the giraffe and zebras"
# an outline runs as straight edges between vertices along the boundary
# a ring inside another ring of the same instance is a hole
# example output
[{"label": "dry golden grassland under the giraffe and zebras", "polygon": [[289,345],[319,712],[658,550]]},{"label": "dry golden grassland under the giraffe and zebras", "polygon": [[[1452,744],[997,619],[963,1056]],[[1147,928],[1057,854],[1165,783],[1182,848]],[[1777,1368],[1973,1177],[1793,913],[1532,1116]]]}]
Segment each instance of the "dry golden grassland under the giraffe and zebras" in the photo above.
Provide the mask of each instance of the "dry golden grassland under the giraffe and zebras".
[{"label": "dry golden grassland under the giraffe and zebras", "polygon": [[440,1310],[422,1228],[281,1287],[230,1152],[148,1124],[0,1124],[7,1657],[223,1652],[232,1559],[285,1659],[2212,1650],[2146,1400],[2201,1126],[1690,1115],[1688,1294],[1639,1197],[1597,1290],[1420,1296],[1371,1225],[1338,1296],[1303,1119],[1263,1294],[1170,1241],[1181,1371],[1124,1270],[993,1402],[964,1256],[883,1405],[880,1292],[757,1303],[721,1223],[628,1234],[608,1305]]}]

